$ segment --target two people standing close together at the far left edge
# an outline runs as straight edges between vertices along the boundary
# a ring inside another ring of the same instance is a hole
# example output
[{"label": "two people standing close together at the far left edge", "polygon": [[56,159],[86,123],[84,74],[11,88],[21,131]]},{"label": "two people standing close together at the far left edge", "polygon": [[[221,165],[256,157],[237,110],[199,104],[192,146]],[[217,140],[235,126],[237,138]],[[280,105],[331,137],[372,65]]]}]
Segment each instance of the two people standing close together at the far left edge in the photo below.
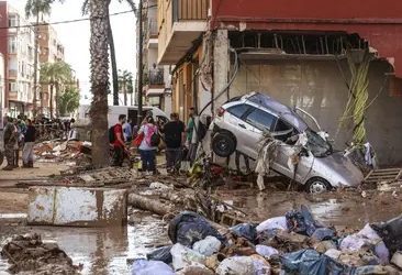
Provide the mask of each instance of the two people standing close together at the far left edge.
[{"label": "two people standing close together at the far left edge", "polygon": [[30,119],[13,119],[8,117],[3,129],[4,155],[7,166],[3,170],[19,167],[20,150],[22,148],[22,167],[33,168],[33,147],[36,129]]}]

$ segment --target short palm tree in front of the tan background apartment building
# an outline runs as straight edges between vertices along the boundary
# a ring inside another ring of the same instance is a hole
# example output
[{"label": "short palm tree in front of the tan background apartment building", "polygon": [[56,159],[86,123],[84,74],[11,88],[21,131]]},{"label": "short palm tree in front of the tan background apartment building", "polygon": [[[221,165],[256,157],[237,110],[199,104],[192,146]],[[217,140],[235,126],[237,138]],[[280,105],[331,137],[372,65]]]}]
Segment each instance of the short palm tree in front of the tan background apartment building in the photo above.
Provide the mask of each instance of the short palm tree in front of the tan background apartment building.
[{"label": "short palm tree in front of the tan background apartment building", "polygon": [[[54,114],[54,105],[56,103],[56,116],[58,117],[58,100],[60,98],[60,89],[71,82],[71,67],[65,62],[45,63],[41,66],[41,84],[51,86],[51,118]],[[54,95],[56,89],[56,95]]]}]

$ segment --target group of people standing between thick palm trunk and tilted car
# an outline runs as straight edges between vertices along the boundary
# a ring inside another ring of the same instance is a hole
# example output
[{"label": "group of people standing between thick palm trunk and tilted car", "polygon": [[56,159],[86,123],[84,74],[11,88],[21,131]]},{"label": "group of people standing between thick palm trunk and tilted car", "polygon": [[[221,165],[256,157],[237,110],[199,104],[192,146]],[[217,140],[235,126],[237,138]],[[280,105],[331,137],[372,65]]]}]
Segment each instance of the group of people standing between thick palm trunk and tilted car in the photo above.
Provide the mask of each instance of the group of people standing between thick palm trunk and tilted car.
[{"label": "group of people standing between thick palm trunk and tilted car", "polygon": [[166,168],[168,173],[177,172],[182,160],[193,162],[197,146],[193,143],[196,128],[194,109],[189,110],[188,124],[180,121],[178,113],[170,114],[170,121],[157,125],[153,116],[148,114],[138,127],[133,127],[125,114],[119,117],[119,123],[113,127],[114,138],[111,143],[114,148],[113,165],[122,166],[124,157],[129,155],[129,147],[133,142],[139,151],[142,172],[156,174],[156,153],[159,141],[155,143],[155,135],[161,136],[166,144]]}]

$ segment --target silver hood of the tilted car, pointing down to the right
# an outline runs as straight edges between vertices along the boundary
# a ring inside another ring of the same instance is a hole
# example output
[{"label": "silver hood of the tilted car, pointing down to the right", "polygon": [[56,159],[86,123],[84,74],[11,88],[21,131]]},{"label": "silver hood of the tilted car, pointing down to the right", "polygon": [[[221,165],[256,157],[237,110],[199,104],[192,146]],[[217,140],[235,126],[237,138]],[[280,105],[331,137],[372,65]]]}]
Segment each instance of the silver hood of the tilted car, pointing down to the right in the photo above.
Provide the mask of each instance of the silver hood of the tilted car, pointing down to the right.
[{"label": "silver hood of the tilted car, pointing down to the right", "polygon": [[333,153],[325,157],[316,157],[322,168],[321,173],[326,174],[326,178],[331,179],[333,186],[339,184],[344,186],[357,186],[364,180],[361,170],[340,152]]}]

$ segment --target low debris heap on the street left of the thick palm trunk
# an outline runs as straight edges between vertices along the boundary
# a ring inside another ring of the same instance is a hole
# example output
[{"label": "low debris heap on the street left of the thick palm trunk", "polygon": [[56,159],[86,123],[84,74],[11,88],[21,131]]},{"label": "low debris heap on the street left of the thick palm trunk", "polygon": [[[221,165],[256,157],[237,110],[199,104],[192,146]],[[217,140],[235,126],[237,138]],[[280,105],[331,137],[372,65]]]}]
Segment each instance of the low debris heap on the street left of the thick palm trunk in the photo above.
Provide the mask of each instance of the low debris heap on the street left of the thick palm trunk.
[{"label": "low debris heap on the street left of the thick palm trunk", "polygon": [[81,148],[88,142],[80,141],[44,141],[35,144],[34,153],[37,160],[52,160],[53,162],[77,161],[82,157]]}]

